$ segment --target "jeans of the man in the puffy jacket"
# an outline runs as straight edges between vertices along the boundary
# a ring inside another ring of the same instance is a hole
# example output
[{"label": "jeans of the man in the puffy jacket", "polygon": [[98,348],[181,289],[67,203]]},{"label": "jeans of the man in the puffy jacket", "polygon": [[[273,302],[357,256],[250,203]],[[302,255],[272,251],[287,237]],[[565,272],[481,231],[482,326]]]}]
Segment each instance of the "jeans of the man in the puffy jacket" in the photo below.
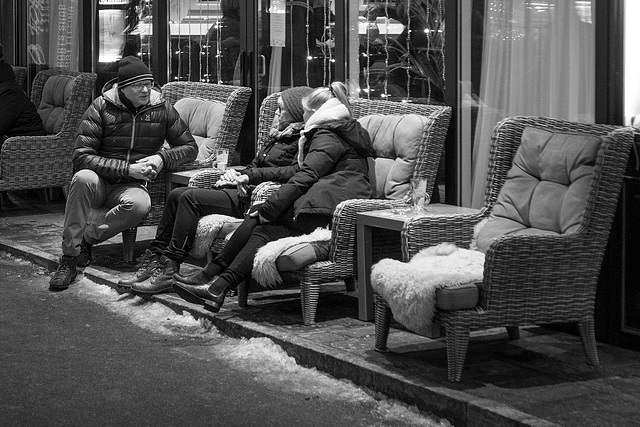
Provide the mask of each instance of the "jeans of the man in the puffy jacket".
[{"label": "jeans of the man in the puffy jacket", "polygon": [[[92,222],[91,209],[104,207],[106,215]],[[90,243],[103,242],[137,226],[151,210],[151,198],[145,186],[137,182],[109,184],[92,170],[83,169],[71,180],[62,230],[62,253],[78,256],[82,238]],[[91,223],[90,223],[91,222]]]}]

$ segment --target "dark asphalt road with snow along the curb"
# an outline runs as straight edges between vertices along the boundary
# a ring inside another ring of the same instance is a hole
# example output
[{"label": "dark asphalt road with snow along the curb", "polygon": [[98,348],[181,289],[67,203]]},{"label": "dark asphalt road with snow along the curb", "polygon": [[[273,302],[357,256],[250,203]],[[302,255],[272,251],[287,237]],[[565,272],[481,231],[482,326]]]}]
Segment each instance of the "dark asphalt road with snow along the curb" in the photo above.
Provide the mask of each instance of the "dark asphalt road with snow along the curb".
[{"label": "dark asphalt road with snow along the curb", "polygon": [[269,343],[194,330],[132,297],[97,303],[113,291],[86,279],[50,292],[48,274],[0,252],[2,426],[439,425],[291,367]]}]

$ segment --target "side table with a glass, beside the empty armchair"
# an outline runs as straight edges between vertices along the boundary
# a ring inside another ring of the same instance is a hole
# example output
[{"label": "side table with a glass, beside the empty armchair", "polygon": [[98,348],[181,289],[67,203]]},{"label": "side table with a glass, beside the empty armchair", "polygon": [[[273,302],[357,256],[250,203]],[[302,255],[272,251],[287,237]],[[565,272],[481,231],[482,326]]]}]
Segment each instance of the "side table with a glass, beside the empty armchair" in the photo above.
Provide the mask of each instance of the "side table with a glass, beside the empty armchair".
[{"label": "side table with a glass, beside the empty armchair", "polygon": [[[478,209],[434,203],[420,215],[453,215],[475,213]],[[391,209],[360,212],[356,219],[356,241],[358,246],[358,318],[372,321],[373,289],[371,288],[371,266],[373,264],[373,233],[376,228],[402,231],[404,223],[416,214],[395,214]],[[408,261],[403,259],[402,261]]]}]

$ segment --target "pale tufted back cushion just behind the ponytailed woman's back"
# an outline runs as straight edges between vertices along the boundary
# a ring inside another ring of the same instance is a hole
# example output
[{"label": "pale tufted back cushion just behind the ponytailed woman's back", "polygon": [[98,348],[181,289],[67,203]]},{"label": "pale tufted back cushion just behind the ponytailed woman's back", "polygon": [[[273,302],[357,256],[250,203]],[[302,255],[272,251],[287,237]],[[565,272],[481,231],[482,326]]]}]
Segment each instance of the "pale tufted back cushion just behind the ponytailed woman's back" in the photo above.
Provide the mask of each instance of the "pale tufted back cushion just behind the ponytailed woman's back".
[{"label": "pale tufted back cushion just behind the ponytailed woman's back", "polygon": [[369,132],[376,158],[369,178],[379,199],[401,199],[410,189],[420,143],[430,119],[418,114],[373,114],[358,119]]}]

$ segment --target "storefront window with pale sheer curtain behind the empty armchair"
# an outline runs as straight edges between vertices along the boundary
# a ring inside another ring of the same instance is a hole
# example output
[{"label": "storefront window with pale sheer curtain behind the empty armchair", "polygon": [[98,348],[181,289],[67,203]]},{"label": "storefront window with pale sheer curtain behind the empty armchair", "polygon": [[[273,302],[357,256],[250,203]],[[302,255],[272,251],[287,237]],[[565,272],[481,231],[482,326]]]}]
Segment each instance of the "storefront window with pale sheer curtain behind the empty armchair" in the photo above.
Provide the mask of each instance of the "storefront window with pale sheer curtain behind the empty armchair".
[{"label": "storefront window with pale sheer curtain behind the empty armchair", "polygon": [[464,206],[484,202],[493,128],[514,115],[595,121],[595,0],[461,1]]}]

